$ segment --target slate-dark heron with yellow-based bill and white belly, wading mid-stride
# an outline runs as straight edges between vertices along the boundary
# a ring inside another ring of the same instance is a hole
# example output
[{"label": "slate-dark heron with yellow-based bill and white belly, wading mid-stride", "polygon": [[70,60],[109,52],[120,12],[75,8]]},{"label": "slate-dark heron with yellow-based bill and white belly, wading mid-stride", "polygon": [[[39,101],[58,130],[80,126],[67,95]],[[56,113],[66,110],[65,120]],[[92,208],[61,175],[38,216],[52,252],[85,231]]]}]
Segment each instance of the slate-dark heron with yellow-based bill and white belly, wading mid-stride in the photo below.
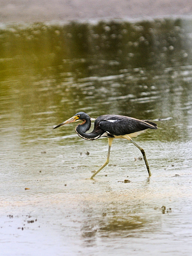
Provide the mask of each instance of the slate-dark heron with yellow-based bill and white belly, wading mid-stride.
[{"label": "slate-dark heron with yellow-based bill and white belly, wading mid-stride", "polygon": [[[91,120],[95,120],[94,129],[92,132],[86,133],[86,131],[88,131],[91,127]],[[93,119],[84,112],[78,112],[74,116],[72,116],[70,119],[55,126],[53,129],[60,127],[61,125],[65,125],[65,124],[69,124],[77,121],[83,121],[81,124],[78,124],[75,128],[75,131],[79,135],[79,137],[85,140],[96,140],[100,137],[108,138],[109,148],[108,148],[107,160],[91,176],[91,179],[109,163],[110,149],[111,149],[111,144],[114,138],[127,139],[141,150],[149,176],[151,176],[151,171],[149,169],[149,164],[147,162],[144,149],[138,146],[131,138],[136,137],[146,129],[157,129],[156,123],[148,120],[139,120],[133,117],[119,116],[119,115],[102,115],[102,116],[98,116],[97,119]]]}]

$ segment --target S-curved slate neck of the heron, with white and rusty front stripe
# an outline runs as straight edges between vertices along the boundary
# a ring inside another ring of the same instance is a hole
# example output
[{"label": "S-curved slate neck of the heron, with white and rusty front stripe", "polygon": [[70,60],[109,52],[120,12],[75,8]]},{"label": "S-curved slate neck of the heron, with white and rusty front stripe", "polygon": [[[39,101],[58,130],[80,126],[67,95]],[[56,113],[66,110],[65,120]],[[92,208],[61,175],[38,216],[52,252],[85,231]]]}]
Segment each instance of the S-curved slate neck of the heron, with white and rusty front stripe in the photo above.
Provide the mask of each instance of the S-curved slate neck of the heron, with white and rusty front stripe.
[{"label": "S-curved slate neck of the heron, with white and rusty front stripe", "polygon": [[90,132],[86,133],[91,127],[91,119],[87,118],[82,120],[82,124],[78,124],[75,128],[76,133],[79,135],[79,137],[85,139],[85,140],[96,140],[98,138],[98,133]]}]

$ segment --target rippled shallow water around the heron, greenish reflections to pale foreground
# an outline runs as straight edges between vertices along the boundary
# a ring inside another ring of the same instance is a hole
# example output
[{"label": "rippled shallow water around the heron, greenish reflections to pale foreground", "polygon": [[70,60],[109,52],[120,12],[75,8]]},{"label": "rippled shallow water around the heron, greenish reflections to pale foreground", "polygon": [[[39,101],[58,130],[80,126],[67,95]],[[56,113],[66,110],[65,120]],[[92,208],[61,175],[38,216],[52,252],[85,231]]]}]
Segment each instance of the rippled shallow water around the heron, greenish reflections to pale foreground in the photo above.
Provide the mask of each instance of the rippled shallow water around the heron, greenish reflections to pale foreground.
[{"label": "rippled shallow water around the heron, greenish reflections to pale foreground", "polygon": [[[191,28],[1,26],[1,255],[191,255]],[[134,139],[152,176],[116,139],[88,179],[107,139],[82,140],[75,124],[52,130],[78,111],[155,120]]]}]

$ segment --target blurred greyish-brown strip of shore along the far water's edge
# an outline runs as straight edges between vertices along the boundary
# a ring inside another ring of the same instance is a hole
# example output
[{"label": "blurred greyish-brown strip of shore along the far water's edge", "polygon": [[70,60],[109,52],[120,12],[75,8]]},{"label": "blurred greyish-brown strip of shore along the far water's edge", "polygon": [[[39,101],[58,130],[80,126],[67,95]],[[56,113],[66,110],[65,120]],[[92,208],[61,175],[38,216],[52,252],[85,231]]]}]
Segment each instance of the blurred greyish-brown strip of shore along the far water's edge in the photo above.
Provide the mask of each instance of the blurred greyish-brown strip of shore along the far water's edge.
[{"label": "blurred greyish-brown strip of shore along the far water's edge", "polygon": [[25,1],[2,0],[0,22],[40,22],[91,19],[149,19],[155,17],[190,16],[192,1]]}]

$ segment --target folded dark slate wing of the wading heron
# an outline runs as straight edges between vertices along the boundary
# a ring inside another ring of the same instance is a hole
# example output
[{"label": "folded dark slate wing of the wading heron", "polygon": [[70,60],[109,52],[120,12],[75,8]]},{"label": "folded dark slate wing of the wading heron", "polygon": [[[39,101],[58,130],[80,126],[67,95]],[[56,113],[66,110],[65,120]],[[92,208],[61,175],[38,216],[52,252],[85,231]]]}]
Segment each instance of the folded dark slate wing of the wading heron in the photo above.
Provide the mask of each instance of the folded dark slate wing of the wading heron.
[{"label": "folded dark slate wing of the wading heron", "polygon": [[157,129],[155,123],[151,121],[146,122],[147,120],[142,121],[132,117],[118,115],[104,115],[103,117],[105,118],[99,122],[99,127],[116,136],[131,134],[146,129]]}]

